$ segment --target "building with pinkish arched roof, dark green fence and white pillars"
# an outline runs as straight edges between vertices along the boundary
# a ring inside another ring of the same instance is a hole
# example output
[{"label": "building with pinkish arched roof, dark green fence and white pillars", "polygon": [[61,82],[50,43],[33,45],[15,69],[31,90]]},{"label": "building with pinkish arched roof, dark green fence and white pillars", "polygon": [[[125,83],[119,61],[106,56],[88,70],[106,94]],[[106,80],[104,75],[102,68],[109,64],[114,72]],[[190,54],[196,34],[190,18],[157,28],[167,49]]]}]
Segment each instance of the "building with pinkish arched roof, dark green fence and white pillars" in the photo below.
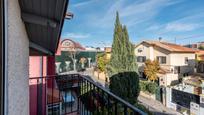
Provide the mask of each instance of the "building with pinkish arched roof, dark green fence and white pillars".
[{"label": "building with pinkish arched roof, dark green fence and white pillars", "polygon": [[80,60],[83,58],[85,58],[85,68],[90,68],[94,65],[97,52],[101,51],[96,48],[84,48],[81,44],[71,39],[63,39],[60,41],[56,53],[56,72],[64,73],[80,70],[80,67],[82,66]]}]

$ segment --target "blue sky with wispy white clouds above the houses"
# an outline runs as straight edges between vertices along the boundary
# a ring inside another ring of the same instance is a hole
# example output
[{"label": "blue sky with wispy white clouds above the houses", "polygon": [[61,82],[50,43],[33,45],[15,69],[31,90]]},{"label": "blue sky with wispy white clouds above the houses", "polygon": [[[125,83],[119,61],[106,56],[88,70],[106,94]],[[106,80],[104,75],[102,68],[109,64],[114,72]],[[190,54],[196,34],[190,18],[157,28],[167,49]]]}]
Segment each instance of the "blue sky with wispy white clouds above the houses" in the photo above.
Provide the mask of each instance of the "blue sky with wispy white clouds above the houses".
[{"label": "blue sky with wispy white clouds above the houses", "polygon": [[70,0],[61,39],[83,46],[110,46],[116,11],[130,41],[158,40],[189,44],[204,41],[204,0]]}]

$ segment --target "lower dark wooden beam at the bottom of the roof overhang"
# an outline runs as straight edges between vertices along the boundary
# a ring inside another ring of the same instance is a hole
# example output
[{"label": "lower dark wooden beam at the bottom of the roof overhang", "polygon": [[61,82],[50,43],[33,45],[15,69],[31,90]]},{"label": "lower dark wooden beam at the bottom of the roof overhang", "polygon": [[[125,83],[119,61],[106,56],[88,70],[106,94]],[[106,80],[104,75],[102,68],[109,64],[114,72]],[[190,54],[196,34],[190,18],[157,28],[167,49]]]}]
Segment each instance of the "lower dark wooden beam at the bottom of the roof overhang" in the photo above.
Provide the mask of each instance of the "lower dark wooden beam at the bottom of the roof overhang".
[{"label": "lower dark wooden beam at the bottom of the roof overhang", "polygon": [[46,48],[44,48],[44,47],[42,47],[42,46],[40,46],[40,45],[38,45],[36,43],[33,43],[33,42],[29,42],[29,47],[33,48],[35,50],[38,50],[38,51],[40,51],[42,53],[48,54],[48,55],[53,55],[54,54],[53,52],[49,51],[48,49],[46,49]]}]

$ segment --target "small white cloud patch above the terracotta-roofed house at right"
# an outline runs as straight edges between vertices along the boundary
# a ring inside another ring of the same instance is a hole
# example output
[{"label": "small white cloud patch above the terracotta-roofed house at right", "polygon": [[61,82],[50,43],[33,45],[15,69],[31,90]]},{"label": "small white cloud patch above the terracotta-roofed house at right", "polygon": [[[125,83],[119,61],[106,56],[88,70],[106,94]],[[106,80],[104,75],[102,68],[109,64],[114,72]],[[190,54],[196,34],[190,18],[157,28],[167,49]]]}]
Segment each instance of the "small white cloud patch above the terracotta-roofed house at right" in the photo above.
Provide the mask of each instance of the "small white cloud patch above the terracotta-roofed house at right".
[{"label": "small white cloud patch above the terracotta-roofed house at right", "polygon": [[169,23],[166,25],[165,29],[167,31],[182,32],[182,31],[192,31],[192,30],[198,29],[199,27],[200,27],[199,24],[193,24],[193,23]]}]

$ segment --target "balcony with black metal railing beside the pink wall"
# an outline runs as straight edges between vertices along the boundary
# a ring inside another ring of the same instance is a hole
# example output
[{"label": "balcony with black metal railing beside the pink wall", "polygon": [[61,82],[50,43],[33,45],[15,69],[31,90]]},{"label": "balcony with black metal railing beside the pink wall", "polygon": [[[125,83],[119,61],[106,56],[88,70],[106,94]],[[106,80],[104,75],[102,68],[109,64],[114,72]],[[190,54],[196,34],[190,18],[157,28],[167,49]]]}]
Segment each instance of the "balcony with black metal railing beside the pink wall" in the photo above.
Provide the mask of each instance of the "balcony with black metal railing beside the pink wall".
[{"label": "balcony with black metal railing beside the pink wall", "polygon": [[146,115],[79,74],[29,79],[30,115]]}]

